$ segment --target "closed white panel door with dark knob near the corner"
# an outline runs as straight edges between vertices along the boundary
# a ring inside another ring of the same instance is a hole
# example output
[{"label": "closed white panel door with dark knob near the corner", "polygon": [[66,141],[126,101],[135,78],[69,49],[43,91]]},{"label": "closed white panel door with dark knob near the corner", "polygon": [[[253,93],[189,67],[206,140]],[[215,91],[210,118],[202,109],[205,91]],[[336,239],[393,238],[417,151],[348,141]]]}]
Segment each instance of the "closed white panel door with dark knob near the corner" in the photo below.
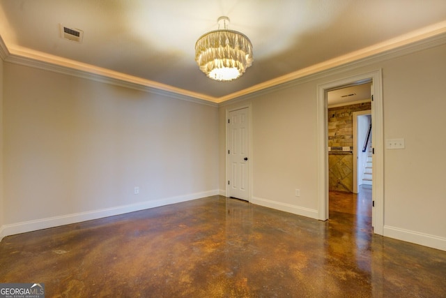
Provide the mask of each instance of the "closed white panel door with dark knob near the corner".
[{"label": "closed white panel door with dark knob near the corner", "polygon": [[248,108],[229,112],[228,119],[229,197],[249,200],[249,121]]}]

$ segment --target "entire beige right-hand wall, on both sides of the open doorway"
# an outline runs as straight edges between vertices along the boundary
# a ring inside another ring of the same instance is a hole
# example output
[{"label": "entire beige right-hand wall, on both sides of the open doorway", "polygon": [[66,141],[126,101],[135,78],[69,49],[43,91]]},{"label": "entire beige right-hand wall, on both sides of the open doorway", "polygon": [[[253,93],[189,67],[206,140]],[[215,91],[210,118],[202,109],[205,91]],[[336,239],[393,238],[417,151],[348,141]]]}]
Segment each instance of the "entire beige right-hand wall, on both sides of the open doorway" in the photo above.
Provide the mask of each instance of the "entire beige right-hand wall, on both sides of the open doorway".
[{"label": "entire beige right-hand wall, on both sides of the open doorway", "polygon": [[[446,250],[446,45],[247,98],[253,118],[252,201],[304,215],[318,209],[318,84],[379,68],[384,138],[406,140],[406,149],[384,152],[384,233],[418,243],[433,239]],[[220,107],[220,134],[224,111],[236,105],[243,102]],[[220,136],[221,190],[224,146]]]}]

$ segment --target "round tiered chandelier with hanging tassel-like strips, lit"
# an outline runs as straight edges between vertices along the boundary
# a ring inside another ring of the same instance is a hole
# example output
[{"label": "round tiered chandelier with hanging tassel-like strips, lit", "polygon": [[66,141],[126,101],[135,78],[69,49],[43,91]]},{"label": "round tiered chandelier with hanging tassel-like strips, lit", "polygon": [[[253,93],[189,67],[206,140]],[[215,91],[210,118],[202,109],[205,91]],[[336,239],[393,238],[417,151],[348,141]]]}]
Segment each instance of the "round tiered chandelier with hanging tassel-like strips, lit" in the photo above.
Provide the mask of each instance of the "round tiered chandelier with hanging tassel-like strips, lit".
[{"label": "round tiered chandelier with hanging tassel-like strips, lit", "polygon": [[217,22],[218,30],[203,34],[195,43],[195,61],[211,79],[231,81],[251,66],[252,44],[245,34],[228,30],[229,17],[219,17]]}]

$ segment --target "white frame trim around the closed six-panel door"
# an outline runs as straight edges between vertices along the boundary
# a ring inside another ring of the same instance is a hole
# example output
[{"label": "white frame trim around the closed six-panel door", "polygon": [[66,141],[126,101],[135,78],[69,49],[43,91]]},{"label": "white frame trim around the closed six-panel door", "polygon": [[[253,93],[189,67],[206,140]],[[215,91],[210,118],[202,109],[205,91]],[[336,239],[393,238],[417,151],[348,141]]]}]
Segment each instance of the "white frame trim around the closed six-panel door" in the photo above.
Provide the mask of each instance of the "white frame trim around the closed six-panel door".
[{"label": "white frame trim around the closed six-panel door", "polygon": [[225,146],[224,146],[224,148],[225,148],[225,151],[224,151],[224,158],[225,158],[225,165],[226,165],[226,180],[225,180],[225,184],[226,184],[226,190],[225,190],[225,193],[226,193],[226,197],[230,197],[231,196],[231,193],[230,193],[230,188],[229,188],[229,185],[226,183],[226,181],[228,181],[229,180],[229,176],[230,176],[230,173],[229,173],[229,171],[230,171],[230,165],[229,165],[229,154],[228,154],[228,150],[229,150],[229,147],[228,147],[228,137],[229,137],[229,133],[228,133],[228,129],[229,129],[229,126],[228,126],[228,119],[229,119],[229,113],[230,112],[233,112],[233,111],[236,111],[236,110],[242,110],[242,109],[245,109],[245,108],[247,108],[248,109],[248,142],[249,142],[249,148],[248,148],[248,158],[249,158],[249,163],[247,163],[247,165],[248,165],[248,179],[247,179],[247,183],[248,183],[248,187],[247,187],[247,191],[248,191],[248,198],[247,198],[247,201],[248,202],[250,202],[251,201],[251,199],[252,199],[252,163],[253,163],[253,161],[254,161],[254,156],[253,156],[253,154],[252,154],[252,105],[251,105],[251,103],[247,103],[247,104],[244,104],[244,105],[236,105],[236,106],[233,106],[233,107],[226,107],[226,114],[225,114],[225,119],[224,119],[224,122],[225,122],[225,129],[224,129],[224,132],[225,132],[225,137],[224,137],[224,140],[225,140],[225,142],[226,142],[226,144],[225,144]]}]

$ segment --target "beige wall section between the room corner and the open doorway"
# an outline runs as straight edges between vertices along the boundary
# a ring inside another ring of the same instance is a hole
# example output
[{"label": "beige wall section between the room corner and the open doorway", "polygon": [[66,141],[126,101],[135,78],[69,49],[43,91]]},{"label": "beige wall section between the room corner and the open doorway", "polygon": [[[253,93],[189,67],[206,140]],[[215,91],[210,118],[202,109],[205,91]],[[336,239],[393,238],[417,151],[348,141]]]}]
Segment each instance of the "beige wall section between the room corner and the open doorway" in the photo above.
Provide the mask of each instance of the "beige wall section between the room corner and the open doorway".
[{"label": "beige wall section between the room corner and the open doorway", "polygon": [[[303,208],[295,213],[317,216],[316,87],[261,94],[244,103],[220,107],[220,190],[225,185],[224,126],[226,110],[252,105],[252,202],[280,209]],[[312,99],[314,102],[312,102]],[[223,170],[222,170],[223,169]],[[295,189],[300,189],[300,198]],[[274,206],[272,204],[274,204]],[[283,207],[283,208],[282,208]],[[306,213],[307,212],[307,213]]]}]

